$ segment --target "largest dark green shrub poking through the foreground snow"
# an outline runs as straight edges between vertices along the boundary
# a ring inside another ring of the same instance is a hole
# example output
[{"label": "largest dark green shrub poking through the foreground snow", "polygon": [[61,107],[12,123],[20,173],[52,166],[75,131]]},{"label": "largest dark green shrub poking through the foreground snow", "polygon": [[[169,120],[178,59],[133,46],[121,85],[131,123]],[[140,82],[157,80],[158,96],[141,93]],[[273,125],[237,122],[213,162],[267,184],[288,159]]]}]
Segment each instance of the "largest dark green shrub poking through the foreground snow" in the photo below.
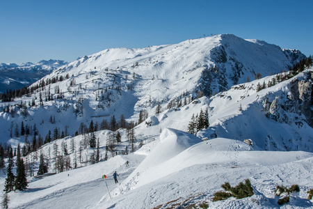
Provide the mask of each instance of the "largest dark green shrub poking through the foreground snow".
[{"label": "largest dark green shrub poking through the foreground snow", "polygon": [[239,185],[236,185],[236,187],[230,186],[230,183],[225,183],[221,185],[221,187],[227,192],[216,192],[214,194],[213,201],[224,200],[229,198],[230,196],[234,196],[236,197],[236,199],[243,199],[245,197],[255,194],[248,178],[245,180],[245,183],[241,182],[239,183]]}]

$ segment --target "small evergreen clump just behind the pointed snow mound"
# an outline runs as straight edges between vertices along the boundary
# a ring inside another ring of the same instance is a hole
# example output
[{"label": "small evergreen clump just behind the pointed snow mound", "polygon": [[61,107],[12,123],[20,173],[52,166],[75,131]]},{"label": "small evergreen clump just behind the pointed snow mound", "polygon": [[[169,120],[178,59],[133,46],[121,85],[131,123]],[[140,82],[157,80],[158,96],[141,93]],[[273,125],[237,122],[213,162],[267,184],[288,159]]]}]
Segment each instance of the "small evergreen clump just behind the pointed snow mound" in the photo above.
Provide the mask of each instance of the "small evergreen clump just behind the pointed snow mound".
[{"label": "small evergreen clump just behind the pointed snow mound", "polygon": [[200,110],[200,114],[196,116],[193,114],[191,116],[191,121],[188,124],[187,132],[190,134],[197,134],[198,131],[202,129],[207,129],[209,127],[209,114],[208,109],[205,111]]}]

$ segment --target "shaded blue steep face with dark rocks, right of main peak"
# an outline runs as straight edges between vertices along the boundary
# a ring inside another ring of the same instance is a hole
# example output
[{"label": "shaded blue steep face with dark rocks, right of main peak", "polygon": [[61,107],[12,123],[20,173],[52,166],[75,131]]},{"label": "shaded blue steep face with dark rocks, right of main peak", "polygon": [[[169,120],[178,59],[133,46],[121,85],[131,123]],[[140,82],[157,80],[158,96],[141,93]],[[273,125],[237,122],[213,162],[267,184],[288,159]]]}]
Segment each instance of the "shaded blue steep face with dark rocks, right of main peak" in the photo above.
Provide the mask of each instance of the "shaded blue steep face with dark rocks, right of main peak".
[{"label": "shaded blue steep face with dark rocks, right of main peak", "polygon": [[198,89],[205,95],[225,91],[235,84],[288,70],[305,55],[297,50],[282,50],[262,40],[244,40],[231,34],[220,35],[220,44],[203,65]]}]

